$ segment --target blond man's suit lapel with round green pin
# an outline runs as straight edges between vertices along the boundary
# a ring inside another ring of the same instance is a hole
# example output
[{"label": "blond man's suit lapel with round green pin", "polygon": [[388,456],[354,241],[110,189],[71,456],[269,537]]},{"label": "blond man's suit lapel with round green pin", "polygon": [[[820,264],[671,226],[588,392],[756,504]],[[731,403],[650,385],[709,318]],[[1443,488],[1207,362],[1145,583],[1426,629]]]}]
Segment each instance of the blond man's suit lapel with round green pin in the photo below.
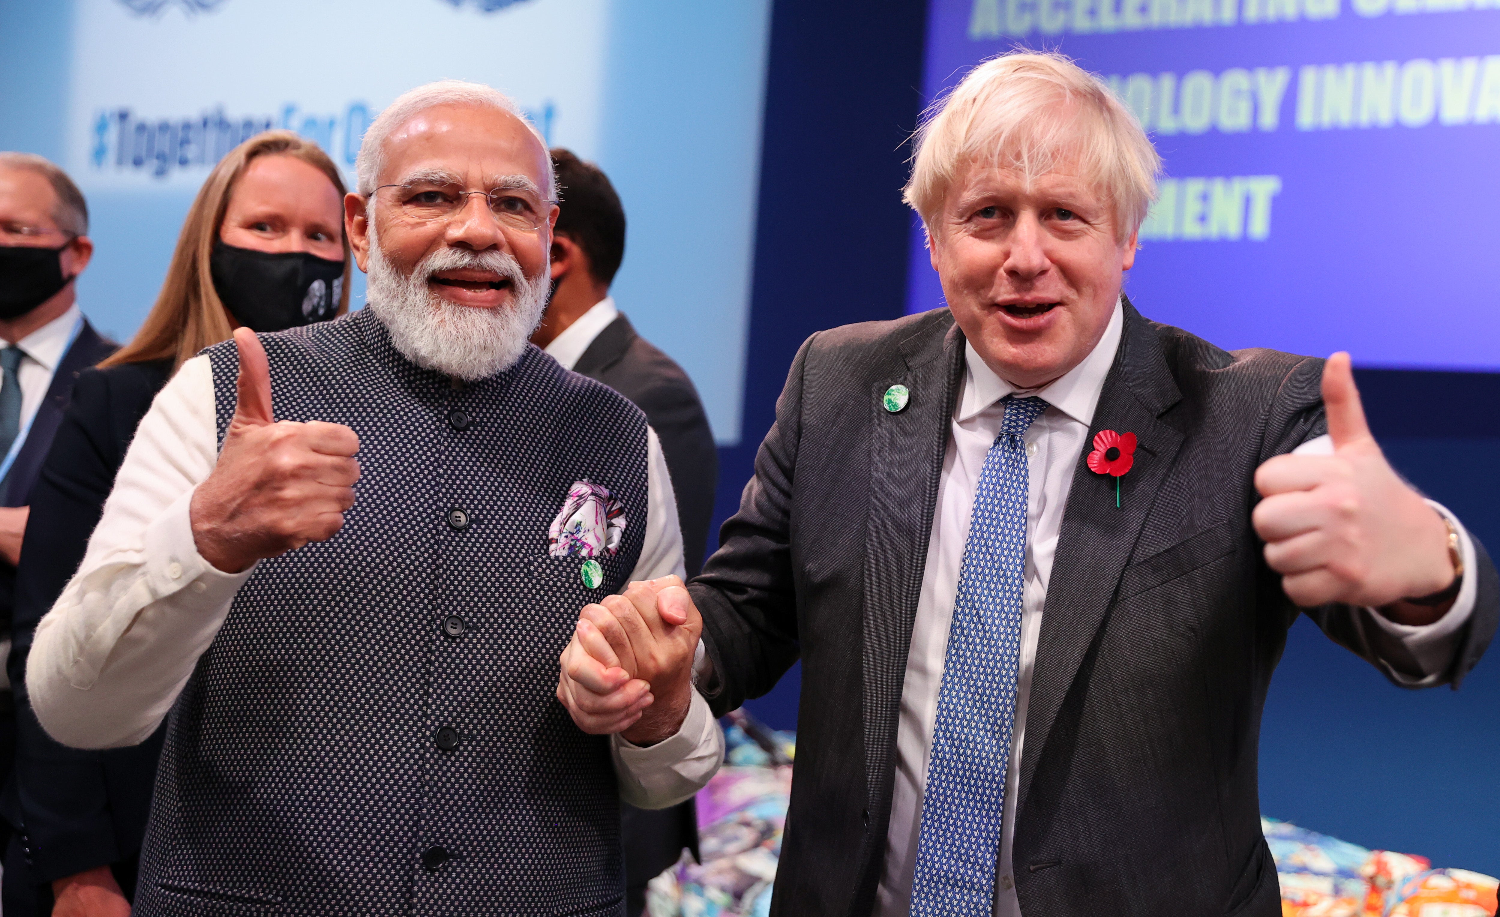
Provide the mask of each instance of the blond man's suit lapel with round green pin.
[{"label": "blond man's suit lapel with round green pin", "polygon": [[[866,393],[870,414],[868,522],[864,557],[864,729],[870,810],[885,813],[896,767],[896,726],[952,404],[963,335],[944,309],[902,342],[904,368]],[[890,386],[910,392],[892,414]]]}]

